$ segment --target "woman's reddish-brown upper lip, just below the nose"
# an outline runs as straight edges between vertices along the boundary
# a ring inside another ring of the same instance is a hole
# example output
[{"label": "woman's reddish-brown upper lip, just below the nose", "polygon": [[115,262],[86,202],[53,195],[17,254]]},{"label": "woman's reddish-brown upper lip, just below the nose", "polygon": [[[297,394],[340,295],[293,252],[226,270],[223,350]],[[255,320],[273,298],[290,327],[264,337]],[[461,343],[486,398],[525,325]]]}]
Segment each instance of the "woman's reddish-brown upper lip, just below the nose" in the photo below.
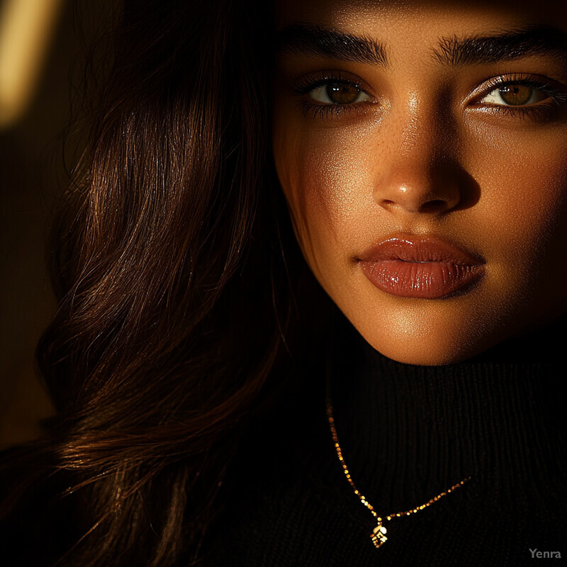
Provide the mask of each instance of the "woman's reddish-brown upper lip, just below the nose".
[{"label": "woman's reddish-brown upper lip, just below the nose", "polygon": [[484,264],[483,258],[433,235],[393,235],[367,248],[357,260],[361,262],[444,262],[461,266]]}]

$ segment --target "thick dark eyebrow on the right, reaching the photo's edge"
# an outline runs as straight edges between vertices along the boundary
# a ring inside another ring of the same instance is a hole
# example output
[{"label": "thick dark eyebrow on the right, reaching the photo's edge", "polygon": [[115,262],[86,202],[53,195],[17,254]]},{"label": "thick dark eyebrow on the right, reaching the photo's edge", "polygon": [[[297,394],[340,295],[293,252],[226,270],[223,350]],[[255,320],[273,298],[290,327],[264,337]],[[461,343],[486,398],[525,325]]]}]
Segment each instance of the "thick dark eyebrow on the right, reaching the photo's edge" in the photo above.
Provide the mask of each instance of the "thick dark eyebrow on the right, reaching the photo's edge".
[{"label": "thick dark eyebrow on the right, reaching the photo's edge", "polygon": [[532,26],[491,36],[441,38],[434,57],[444,64],[471,65],[510,61],[530,55],[567,60],[567,33],[552,26]]}]

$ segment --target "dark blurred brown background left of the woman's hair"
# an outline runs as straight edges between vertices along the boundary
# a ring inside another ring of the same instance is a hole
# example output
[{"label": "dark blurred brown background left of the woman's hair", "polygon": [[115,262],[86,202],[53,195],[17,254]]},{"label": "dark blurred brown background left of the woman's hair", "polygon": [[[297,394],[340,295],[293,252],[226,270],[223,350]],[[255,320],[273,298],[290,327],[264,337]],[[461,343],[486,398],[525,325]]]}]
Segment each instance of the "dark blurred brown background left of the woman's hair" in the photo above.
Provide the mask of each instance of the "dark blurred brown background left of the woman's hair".
[{"label": "dark blurred brown background left of the woman's hair", "polygon": [[[0,26],[8,1],[0,0]],[[62,0],[30,103],[0,128],[0,447],[33,438],[38,420],[52,411],[33,355],[56,308],[45,246],[53,207],[67,185],[65,162],[74,155],[63,135],[80,91],[84,45],[101,33],[102,6]]]}]

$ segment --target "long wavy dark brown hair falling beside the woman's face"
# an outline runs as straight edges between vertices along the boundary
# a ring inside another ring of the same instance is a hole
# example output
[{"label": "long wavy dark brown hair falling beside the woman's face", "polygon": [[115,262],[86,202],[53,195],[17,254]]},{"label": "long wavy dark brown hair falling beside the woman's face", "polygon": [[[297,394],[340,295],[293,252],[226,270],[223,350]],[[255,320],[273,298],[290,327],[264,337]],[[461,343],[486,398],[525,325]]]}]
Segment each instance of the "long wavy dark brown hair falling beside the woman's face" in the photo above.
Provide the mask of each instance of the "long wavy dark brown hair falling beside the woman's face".
[{"label": "long wavy dark brown hair falling beside the woman's face", "polygon": [[239,424],[288,369],[305,265],[271,167],[264,4],[124,3],[51,247],[57,417],[18,457],[71,503],[59,565],[197,561]]}]

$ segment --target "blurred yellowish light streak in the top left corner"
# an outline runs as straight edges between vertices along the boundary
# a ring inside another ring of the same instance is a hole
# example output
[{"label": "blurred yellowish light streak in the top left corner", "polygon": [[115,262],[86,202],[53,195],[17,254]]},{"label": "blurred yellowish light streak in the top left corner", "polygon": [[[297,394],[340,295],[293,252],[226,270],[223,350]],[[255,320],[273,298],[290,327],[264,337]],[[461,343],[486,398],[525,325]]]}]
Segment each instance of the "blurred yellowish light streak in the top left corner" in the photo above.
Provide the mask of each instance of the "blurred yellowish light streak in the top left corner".
[{"label": "blurred yellowish light streak in the top left corner", "polygon": [[0,4],[0,128],[26,111],[63,0],[4,0]]}]

